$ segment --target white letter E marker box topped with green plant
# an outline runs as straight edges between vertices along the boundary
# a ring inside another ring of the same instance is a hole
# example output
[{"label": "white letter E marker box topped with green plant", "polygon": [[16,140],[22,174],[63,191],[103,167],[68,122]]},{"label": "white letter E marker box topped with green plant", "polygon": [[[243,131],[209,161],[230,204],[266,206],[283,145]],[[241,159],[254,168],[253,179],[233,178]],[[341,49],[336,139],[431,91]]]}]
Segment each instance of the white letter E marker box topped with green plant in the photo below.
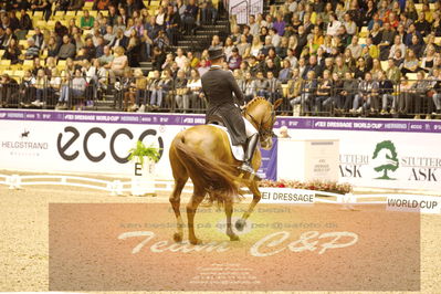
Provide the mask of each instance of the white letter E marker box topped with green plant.
[{"label": "white letter E marker box topped with green plant", "polygon": [[160,157],[159,148],[145,146],[138,140],[136,147],[129,150],[128,160],[135,162],[132,177],[132,195],[144,196],[155,193],[155,164]]}]

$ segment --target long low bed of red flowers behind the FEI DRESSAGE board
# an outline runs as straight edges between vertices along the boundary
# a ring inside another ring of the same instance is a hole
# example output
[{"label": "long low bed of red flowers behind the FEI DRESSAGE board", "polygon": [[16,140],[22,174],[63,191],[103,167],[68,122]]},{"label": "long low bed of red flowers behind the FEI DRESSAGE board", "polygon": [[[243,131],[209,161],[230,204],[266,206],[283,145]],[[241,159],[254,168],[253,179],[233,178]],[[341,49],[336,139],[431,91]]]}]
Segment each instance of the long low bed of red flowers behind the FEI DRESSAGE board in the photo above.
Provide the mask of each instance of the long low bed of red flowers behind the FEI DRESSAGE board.
[{"label": "long low bed of red flowers behind the FEI DRESSAGE board", "polygon": [[315,190],[333,193],[348,193],[353,191],[353,186],[349,183],[338,183],[336,181],[308,181],[302,182],[296,180],[261,180],[259,187],[274,187],[274,188],[292,188],[292,189],[305,189]]}]

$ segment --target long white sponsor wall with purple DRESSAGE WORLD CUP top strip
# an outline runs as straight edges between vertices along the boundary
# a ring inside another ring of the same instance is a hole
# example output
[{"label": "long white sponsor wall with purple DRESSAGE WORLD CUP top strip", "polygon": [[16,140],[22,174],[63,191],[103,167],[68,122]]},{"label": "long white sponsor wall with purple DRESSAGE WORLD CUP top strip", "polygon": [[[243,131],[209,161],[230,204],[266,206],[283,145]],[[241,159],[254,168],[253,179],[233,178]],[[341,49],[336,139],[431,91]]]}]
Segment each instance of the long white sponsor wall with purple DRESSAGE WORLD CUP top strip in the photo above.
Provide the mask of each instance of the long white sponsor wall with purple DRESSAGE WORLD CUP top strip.
[{"label": "long white sponsor wall with purple DRESSAGE WORLD CUP top strip", "polygon": [[[0,169],[133,175],[128,150],[140,139],[161,148],[159,178],[171,179],[168,148],[175,135],[203,124],[203,115],[0,111]],[[339,179],[356,187],[441,189],[441,122],[277,117],[295,139],[338,139]],[[281,144],[281,143],[279,143]],[[262,174],[275,178],[279,157],[263,154]],[[286,172],[283,172],[286,175]]]}]

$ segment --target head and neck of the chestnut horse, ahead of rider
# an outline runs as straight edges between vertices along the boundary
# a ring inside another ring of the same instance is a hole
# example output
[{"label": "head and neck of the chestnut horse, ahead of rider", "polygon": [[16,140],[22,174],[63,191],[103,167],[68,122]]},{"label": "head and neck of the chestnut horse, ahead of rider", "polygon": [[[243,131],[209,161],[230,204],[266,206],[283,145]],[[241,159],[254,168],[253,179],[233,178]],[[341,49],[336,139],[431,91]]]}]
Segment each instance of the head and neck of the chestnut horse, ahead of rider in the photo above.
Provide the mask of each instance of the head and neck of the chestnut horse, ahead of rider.
[{"label": "head and neck of the chestnut horse, ahead of rider", "polygon": [[273,126],[275,123],[275,109],[283,99],[277,99],[274,105],[262,97],[249,102],[245,107],[245,118],[258,129],[261,146],[269,150],[273,147]]}]

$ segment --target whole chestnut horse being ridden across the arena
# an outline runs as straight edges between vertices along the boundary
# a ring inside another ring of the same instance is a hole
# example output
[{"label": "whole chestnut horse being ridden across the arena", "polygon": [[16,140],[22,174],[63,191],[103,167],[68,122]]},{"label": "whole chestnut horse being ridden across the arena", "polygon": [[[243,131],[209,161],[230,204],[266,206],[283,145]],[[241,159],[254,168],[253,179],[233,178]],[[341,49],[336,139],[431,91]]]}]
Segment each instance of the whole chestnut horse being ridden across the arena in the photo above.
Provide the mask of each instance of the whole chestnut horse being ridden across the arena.
[{"label": "whole chestnut horse being ridden across the arena", "polygon": [[[274,105],[264,98],[256,97],[246,104],[244,117],[259,130],[261,147],[271,149],[273,141],[273,125],[275,108],[282,103],[277,99]],[[238,166],[241,161],[234,159],[229,138],[224,130],[216,126],[198,125],[176,135],[170,146],[170,165],[175,178],[175,189],[170,196],[170,203],[177,219],[176,242],[182,241],[183,222],[180,216],[180,195],[188,178],[193,182],[193,193],[187,204],[189,241],[199,244],[195,234],[195,213],[198,206],[208,193],[211,201],[223,204],[227,214],[227,235],[231,241],[239,237],[232,231],[231,214],[234,197],[239,195],[239,186],[246,186],[253,193],[253,200],[242,218],[235,223],[238,230],[243,230],[246,219],[261,199],[256,180],[245,180],[239,175]],[[261,154],[256,149],[252,167],[258,170],[261,165]]]}]

